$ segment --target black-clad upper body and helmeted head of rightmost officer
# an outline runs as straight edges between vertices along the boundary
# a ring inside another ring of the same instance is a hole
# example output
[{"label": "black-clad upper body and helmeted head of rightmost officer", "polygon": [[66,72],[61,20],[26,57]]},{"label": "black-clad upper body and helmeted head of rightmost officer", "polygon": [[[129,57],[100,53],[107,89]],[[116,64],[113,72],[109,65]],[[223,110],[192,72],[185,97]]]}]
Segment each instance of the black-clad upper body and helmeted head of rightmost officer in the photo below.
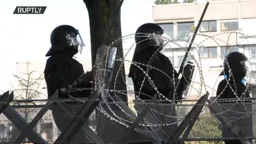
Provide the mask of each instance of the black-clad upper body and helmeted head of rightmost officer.
[{"label": "black-clad upper body and helmeted head of rightmost officer", "polygon": [[[239,52],[232,52],[229,53],[228,56],[226,56],[226,59],[224,60],[224,70],[221,72],[220,75],[227,75],[227,78],[219,82],[216,92],[216,96],[218,98],[250,98],[248,91],[246,91],[246,86],[242,83],[242,80],[243,78],[245,78],[247,72],[245,61],[247,61],[246,56]],[[231,70],[232,75],[229,74],[229,70]],[[220,103],[235,103],[235,101]],[[224,131],[222,131],[222,135],[226,135],[226,133],[232,133],[231,131],[227,130],[226,126],[223,127],[223,130]],[[225,140],[225,143],[242,144],[240,140]]]}]

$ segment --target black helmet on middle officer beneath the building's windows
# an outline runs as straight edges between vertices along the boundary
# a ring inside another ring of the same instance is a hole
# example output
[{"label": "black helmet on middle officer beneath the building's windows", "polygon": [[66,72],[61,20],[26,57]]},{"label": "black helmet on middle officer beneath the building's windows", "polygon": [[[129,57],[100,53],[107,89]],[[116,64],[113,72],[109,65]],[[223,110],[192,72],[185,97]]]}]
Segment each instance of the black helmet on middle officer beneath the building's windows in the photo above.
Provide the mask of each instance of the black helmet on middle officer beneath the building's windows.
[{"label": "black helmet on middle officer beneath the building's windows", "polygon": [[[140,34],[143,33],[143,34]],[[149,46],[163,46],[164,40],[162,37],[150,37],[149,34],[162,35],[164,30],[158,24],[146,23],[142,24],[135,34],[136,43],[147,43]]]}]

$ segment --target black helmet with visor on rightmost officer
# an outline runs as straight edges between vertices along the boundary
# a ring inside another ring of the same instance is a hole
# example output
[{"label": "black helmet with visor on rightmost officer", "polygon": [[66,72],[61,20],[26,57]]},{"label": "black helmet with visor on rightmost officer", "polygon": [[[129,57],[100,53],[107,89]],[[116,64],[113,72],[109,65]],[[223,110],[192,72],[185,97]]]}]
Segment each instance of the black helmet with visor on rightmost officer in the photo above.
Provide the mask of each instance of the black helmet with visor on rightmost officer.
[{"label": "black helmet with visor on rightmost officer", "polygon": [[232,72],[232,75],[237,78],[245,78],[247,73],[247,66],[245,62],[247,57],[243,53],[232,52],[229,53],[224,59],[223,65],[224,69],[220,75],[229,75],[229,69]]}]

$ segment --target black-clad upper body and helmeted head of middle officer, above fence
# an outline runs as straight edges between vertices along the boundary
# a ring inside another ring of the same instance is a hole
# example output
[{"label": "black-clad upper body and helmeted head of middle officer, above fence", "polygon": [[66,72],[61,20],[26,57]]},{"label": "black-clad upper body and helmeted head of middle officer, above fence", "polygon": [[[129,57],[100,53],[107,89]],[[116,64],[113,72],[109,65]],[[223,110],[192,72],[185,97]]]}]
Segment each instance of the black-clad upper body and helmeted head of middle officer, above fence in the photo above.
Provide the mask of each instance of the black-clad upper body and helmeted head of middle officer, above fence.
[{"label": "black-clad upper body and helmeted head of middle officer, above fence", "polygon": [[[174,82],[176,85],[178,83],[178,79],[176,79],[177,72],[168,57],[159,52],[164,45],[164,40],[159,37],[163,33],[162,27],[151,23],[142,24],[136,30],[136,49],[128,76],[133,79],[134,91],[142,100],[151,99],[157,92],[155,88],[168,99],[181,99],[183,91],[189,85],[185,82],[184,77],[181,78],[181,82],[176,89],[177,93],[174,94]],[[152,37],[149,36],[150,34],[155,35]],[[185,69],[190,68],[185,67]],[[187,80],[190,81],[190,78],[187,77]],[[141,91],[139,91],[140,88]],[[159,94],[158,99],[165,100]]]}]

